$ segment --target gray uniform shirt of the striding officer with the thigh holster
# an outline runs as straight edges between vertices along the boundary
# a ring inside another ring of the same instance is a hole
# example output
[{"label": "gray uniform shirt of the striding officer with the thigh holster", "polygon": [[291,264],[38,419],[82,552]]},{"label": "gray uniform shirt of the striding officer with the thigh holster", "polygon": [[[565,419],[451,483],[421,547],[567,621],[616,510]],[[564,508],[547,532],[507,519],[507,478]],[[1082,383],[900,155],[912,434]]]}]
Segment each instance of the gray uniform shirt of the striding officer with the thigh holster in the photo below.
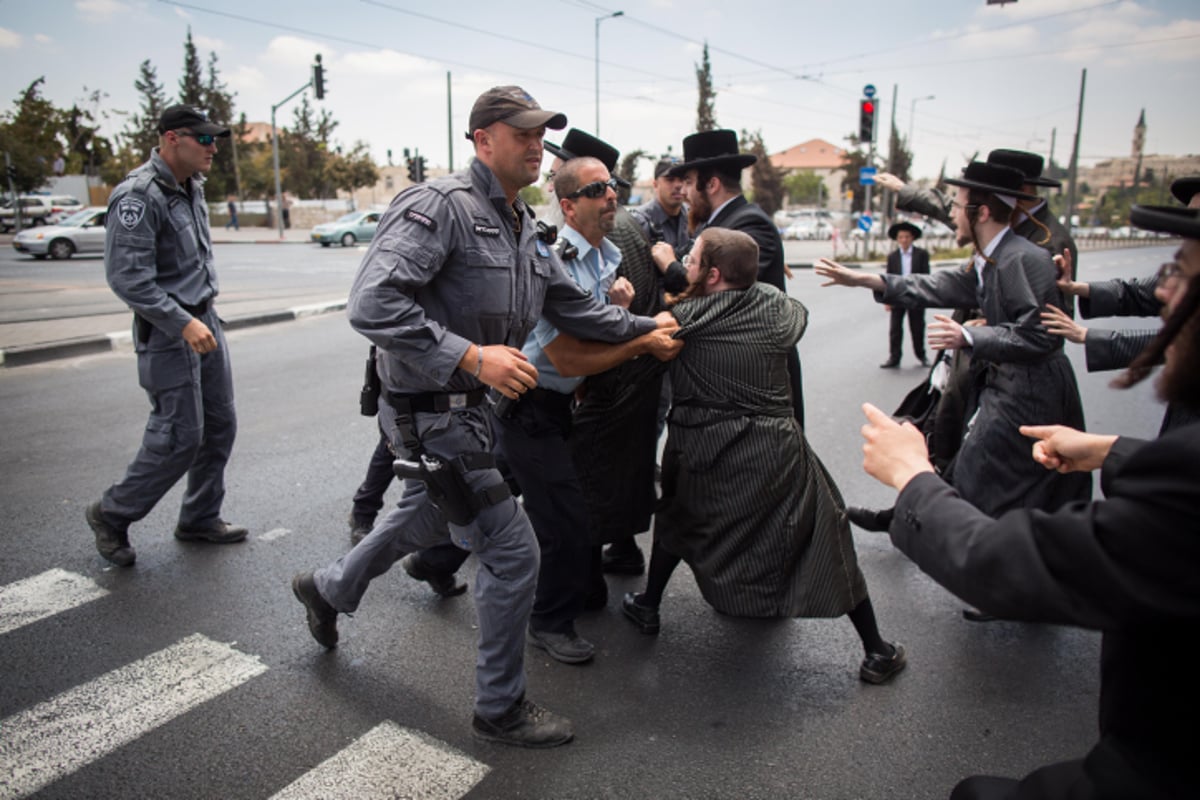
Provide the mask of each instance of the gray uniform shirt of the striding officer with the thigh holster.
[{"label": "gray uniform shirt of the striding officer with the thigh holster", "polygon": [[655,327],[653,318],[580,289],[536,237],[529,206],[521,199],[510,206],[478,160],[396,196],[354,278],[347,315],[384,351],[384,386],[402,395],[478,389],[480,381],[457,368],[467,350],[520,349],[542,315],[572,336],[604,342]]}]

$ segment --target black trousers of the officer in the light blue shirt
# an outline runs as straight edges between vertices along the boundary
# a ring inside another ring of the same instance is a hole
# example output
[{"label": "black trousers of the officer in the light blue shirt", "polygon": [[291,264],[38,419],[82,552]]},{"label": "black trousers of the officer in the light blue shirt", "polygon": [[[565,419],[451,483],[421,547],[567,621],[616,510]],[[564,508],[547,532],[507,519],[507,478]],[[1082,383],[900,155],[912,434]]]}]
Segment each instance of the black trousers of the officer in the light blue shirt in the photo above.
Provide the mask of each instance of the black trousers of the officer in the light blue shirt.
[{"label": "black trousers of the officer in the light blue shirt", "polygon": [[568,438],[571,396],[536,389],[510,419],[497,420],[499,455],[521,485],[524,510],[541,551],[529,627],[569,633],[589,587],[588,512]]}]

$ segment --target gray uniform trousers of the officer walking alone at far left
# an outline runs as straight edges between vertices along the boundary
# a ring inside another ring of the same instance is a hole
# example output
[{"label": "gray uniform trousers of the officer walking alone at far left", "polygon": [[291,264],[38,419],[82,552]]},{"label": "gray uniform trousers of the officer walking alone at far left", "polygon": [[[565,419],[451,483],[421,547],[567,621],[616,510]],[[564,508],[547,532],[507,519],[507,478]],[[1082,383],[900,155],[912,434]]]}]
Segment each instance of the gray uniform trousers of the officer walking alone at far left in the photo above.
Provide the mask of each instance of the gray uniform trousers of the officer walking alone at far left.
[{"label": "gray uniform trousers of the officer walking alone at far left", "polygon": [[205,528],[221,517],[224,468],[238,433],[233,373],[211,303],[199,319],[217,341],[211,353],[200,355],[182,337],[152,326],[150,339],[137,343],[138,383],[150,397],[150,419],[125,477],[104,492],[100,506],[104,519],[122,530],[150,513],[185,474],[179,524]]}]

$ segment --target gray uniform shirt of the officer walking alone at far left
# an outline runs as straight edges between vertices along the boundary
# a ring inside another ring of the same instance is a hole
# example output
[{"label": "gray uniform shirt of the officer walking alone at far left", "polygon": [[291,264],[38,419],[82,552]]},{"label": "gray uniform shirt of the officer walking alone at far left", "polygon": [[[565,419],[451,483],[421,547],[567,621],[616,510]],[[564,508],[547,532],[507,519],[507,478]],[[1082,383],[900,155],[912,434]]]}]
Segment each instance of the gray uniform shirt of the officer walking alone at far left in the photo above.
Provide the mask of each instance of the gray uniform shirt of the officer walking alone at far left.
[{"label": "gray uniform shirt of the officer walking alone at far left", "polygon": [[139,317],[180,336],[199,306],[217,296],[204,179],[182,186],[158,148],[108,201],[104,273],[113,293]]}]

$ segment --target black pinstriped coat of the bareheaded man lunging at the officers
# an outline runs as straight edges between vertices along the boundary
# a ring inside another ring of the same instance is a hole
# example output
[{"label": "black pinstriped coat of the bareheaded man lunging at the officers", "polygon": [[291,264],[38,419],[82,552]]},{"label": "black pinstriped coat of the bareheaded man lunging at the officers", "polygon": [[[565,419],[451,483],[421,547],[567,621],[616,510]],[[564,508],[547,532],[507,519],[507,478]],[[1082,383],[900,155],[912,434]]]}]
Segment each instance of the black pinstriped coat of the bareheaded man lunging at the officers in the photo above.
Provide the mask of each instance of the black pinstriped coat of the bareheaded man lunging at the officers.
[{"label": "black pinstriped coat of the bareheaded man lunging at the officers", "polygon": [[655,541],[738,616],[840,616],[866,596],[838,487],[809,449],[787,353],[808,311],[774,287],[685,300]]}]

